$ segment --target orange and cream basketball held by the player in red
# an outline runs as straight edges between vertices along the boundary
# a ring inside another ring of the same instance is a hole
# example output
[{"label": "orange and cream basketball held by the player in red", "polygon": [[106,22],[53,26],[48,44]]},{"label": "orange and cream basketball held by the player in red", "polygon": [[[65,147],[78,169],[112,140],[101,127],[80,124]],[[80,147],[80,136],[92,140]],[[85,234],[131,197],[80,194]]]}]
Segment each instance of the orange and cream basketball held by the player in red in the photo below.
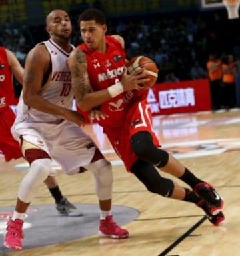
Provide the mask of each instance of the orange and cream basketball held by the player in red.
[{"label": "orange and cream basketball held by the player in red", "polygon": [[152,87],[157,81],[158,68],[156,63],[145,56],[136,56],[131,58],[127,63],[127,71],[131,74],[141,68],[145,68],[146,76],[150,78],[150,81],[147,83],[141,83],[143,89],[148,89]]}]

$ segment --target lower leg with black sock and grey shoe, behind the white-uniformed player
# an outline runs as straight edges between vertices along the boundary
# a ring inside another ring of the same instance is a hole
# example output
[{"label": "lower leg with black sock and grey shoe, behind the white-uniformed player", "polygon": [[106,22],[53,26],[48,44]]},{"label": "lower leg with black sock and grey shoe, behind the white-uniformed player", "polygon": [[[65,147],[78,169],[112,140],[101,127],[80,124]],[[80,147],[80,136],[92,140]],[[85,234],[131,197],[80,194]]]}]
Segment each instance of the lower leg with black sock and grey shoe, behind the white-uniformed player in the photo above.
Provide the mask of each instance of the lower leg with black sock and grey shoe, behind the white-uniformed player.
[{"label": "lower leg with black sock and grey shoe, behind the white-uniformed player", "polygon": [[[44,183],[47,185],[47,188],[55,199],[58,213],[71,215],[70,213],[77,209],[75,205],[70,203],[69,200],[62,195],[59,185],[57,184],[57,179],[54,176],[48,176]],[[78,215],[82,214],[79,213]]]}]

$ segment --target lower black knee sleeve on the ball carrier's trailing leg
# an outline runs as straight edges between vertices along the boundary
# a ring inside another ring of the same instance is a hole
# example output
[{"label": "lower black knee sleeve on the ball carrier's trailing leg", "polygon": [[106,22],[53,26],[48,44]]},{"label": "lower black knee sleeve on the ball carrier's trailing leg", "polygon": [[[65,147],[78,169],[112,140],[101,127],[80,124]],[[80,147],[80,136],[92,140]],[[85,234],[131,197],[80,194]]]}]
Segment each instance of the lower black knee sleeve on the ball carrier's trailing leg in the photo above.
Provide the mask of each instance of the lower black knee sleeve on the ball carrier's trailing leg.
[{"label": "lower black knee sleeve on the ball carrier's trailing leg", "polygon": [[161,177],[159,172],[150,163],[139,160],[133,164],[131,171],[150,192],[162,195],[163,197],[171,197],[173,194],[173,181]]}]

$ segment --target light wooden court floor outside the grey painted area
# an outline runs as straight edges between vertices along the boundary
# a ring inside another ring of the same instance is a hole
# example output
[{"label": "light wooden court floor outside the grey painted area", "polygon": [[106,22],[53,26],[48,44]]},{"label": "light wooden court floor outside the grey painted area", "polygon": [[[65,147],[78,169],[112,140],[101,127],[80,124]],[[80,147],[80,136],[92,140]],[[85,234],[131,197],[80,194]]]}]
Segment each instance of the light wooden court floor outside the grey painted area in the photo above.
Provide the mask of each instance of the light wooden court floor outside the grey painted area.
[{"label": "light wooden court floor outside the grey painted area", "polygon": [[[161,145],[198,177],[214,185],[225,199],[226,222],[223,226],[214,227],[203,211],[191,203],[149,193],[125,171],[101,129],[97,125],[87,125],[86,131],[114,165],[113,204],[139,211],[139,218],[125,225],[129,239],[103,239],[95,235],[3,255],[240,255],[240,111],[155,117],[154,128]],[[15,205],[19,182],[25,174],[16,165],[22,163],[23,159],[5,163],[0,157],[0,207]],[[57,179],[64,195],[73,203],[97,203],[91,173],[67,177],[58,171]],[[32,204],[52,203],[53,198],[42,185],[39,197]]]}]

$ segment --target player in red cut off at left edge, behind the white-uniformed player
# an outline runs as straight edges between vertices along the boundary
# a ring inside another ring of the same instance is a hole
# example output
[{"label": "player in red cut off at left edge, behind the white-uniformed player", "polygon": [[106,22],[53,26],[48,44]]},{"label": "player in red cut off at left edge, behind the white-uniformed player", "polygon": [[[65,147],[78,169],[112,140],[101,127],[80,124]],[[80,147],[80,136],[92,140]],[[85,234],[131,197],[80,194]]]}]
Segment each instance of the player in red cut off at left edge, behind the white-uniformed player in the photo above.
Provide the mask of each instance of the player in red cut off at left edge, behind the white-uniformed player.
[{"label": "player in red cut off at left edge, behind the white-uniformed player", "polygon": [[[11,134],[11,126],[15,121],[15,114],[10,107],[14,104],[13,75],[22,85],[23,67],[12,51],[0,47],[0,150],[7,162],[23,157],[19,142]],[[44,182],[55,199],[57,211],[71,216],[77,208],[63,197],[57,179],[49,176]]]}]

